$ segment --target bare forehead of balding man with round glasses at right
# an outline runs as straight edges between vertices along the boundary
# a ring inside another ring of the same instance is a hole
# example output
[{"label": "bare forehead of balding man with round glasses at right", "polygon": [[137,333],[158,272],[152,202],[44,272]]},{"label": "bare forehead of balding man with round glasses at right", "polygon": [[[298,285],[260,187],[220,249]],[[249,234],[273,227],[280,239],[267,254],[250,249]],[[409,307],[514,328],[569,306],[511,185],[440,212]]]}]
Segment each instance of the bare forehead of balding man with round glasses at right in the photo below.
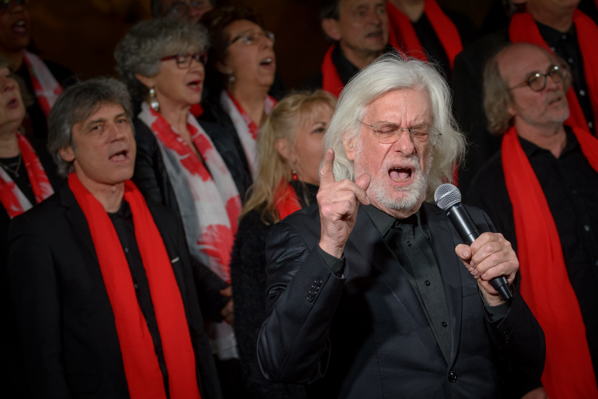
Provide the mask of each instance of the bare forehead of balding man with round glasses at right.
[{"label": "bare forehead of balding man with round glasses at right", "polygon": [[520,83],[530,75],[546,73],[556,61],[548,51],[535,45],[517,45],[503,50],[498,56],[502,78],[509,86]]}]

